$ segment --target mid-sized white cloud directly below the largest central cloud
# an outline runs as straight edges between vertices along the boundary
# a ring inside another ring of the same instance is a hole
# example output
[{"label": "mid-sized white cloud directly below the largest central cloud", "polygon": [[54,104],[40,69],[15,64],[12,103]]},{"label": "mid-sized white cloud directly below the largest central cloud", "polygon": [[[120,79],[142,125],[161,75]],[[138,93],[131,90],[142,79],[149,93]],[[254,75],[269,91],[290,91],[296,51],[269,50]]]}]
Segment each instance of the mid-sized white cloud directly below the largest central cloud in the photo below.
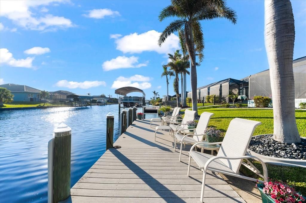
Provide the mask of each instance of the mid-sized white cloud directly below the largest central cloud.
[{"label": "mid-sized white cloud directly below the largest central cloud", "polygon": [[138,63],[138,57],[136,56],[118,56],[116,59],[103,62],[102,67],[104,71],[109,71],[120,68],[140,68],[147,66],[147,63]]}]

